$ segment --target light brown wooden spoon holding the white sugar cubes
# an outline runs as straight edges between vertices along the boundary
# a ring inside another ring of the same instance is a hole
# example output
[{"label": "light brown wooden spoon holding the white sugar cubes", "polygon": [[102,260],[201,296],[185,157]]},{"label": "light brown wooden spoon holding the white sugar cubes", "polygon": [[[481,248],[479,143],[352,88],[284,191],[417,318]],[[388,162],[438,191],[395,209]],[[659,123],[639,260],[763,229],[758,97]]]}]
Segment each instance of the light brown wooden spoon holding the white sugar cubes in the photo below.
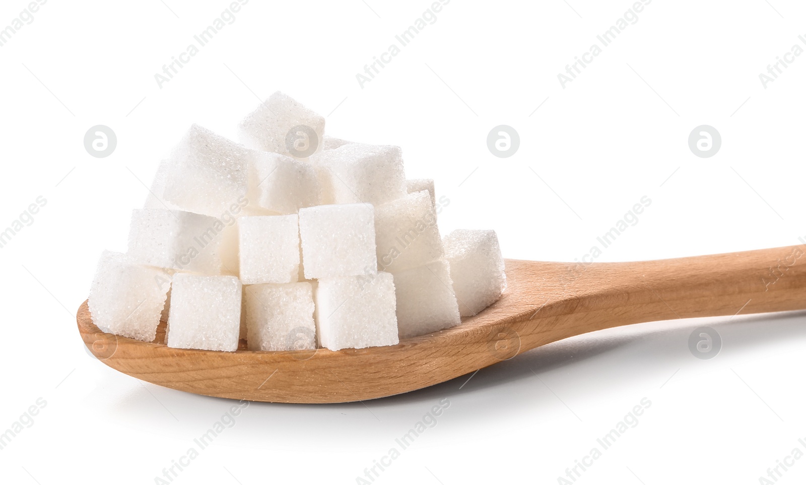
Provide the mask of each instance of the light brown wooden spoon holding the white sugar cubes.
[{"label": "light brown wooden spoon holding the white sugar cubes", "polygon": [[[806,308],[806,246],[587,265],[506,261],[508,286],[462,324],[368,349],[172,349],[102,332],[78,309],[85,345],[107,366],[164,387],[231,399],[343,403],[442,383],[586,332],[653,320]],[[682,325],[682,324],[681,324]],[[680,345],[686,345],[681,342]]]}]

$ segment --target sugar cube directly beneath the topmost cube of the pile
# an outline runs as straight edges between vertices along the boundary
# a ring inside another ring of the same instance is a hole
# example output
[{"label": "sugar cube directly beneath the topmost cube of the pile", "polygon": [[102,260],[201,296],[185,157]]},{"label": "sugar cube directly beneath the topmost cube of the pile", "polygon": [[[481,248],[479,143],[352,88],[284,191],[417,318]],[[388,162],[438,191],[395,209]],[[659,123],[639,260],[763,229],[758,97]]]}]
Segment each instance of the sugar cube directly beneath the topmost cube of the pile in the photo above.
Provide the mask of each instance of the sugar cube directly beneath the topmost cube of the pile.
[{"label": "sugar cube directly beneath the topmost cube of the pile", "polygon": [[251,152],[247,195],[251,206],[296,214],[301,207],[318,205],[319,192],[314,165],[278,153]]}]

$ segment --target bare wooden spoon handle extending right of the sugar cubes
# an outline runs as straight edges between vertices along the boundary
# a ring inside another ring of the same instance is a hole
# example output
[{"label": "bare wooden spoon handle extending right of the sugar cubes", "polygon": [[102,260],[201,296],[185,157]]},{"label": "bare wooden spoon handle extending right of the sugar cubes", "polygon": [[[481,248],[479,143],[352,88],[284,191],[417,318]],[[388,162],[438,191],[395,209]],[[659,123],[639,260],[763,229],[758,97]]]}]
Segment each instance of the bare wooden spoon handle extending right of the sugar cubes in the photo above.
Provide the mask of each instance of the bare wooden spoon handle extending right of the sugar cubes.
[{"label": "bare wooden spoon handle extending right of the sugar cubes", "polygon": [[533,295],[545,302],[531,299],[512,325],[521,351],[627,324],[806,309],[802,245],[657,261],[531,264]]}]

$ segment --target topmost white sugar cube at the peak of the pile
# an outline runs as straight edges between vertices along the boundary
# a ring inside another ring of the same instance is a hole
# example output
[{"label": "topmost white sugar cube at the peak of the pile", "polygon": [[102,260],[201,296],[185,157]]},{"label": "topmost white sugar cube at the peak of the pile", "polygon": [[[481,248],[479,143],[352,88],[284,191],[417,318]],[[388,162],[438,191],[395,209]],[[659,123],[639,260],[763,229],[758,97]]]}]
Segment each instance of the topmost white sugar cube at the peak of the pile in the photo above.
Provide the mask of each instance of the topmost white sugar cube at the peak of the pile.
[{"label": "topmost white sugar cube at the peak of the pile", "polygon": [[243,119],[239,132],[248,148],[307,158],[322,149],[325,119],[277,91]]}]

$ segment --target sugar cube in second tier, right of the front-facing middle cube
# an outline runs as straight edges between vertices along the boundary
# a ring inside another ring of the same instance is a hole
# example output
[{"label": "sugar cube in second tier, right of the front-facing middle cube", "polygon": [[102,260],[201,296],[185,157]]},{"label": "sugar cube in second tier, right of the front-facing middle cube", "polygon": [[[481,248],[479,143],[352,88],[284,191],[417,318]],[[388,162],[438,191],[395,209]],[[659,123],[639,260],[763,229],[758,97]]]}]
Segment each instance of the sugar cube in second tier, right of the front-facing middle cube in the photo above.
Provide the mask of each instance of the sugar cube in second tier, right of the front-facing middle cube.
[{"label": "sugar cube in second tier, right of the front-facing middle cube", "polygon": [[375,209],[378,269],[392,273],[442,257],[437,216],[426,190]]}]

